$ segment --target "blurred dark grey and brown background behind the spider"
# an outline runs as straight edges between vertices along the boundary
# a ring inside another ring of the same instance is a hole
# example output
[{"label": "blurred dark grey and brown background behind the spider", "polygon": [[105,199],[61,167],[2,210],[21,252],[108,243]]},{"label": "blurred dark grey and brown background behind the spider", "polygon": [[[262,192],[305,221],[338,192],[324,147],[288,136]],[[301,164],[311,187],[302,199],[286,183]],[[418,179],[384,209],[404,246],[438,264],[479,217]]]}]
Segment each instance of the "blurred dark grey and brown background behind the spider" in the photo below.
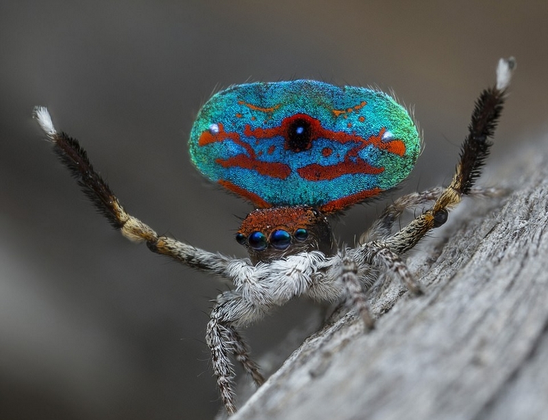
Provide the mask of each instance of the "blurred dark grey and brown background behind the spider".
[{"label": "blurred dark grey and brown background behind the spider", "polygon": [[[114,232],[41,140],[34,105],[134,215],[244,257],[234,231],[250,205],[204,181],[186,150],[214,90],[295,78],[393,89],[425,140],[406,192],[449,181],[473,101],[509,55],[518,70],[489,166],[547,129],[546,0],[2,1],[0,418],[208,419],[220,406],[203,337],[225,286]],[[337,235],[351,243],[379,209],[351,209]],[[313,311],[290,304],[249,328],[254,354]]]}]

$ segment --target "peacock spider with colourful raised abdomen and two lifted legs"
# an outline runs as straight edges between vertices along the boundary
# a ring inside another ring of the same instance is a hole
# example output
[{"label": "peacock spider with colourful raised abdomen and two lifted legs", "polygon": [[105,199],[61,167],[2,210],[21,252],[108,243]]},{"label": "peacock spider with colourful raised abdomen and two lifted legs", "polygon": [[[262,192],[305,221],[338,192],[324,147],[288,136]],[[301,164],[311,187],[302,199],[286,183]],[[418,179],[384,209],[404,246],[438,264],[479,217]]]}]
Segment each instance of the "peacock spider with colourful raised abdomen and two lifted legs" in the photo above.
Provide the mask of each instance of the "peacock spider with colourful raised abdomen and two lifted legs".
[{"label": "peacock spider with colourful raised abdomen and two lifted legs", "polygon": [[[55,130],[45,107],[36,107],[34,117],[64,166],[114,228],[132,241],[145,241],[153,252],[232,281],[234,289],[214,301],[206,342],[221,399],[233,414],[231,356],[258,386],[264,382],[240,328],[275,306],[308,296],[345,302],[369,330],[374,320],[365,292],[379,268],[393,272],[411,293],[422,293],[402,255],[445,224],[462,195],[482,192],[473,185],[488,156],[488,137],[493,136],[514,67],[513,58],[501,59],[497,83],[477,99],[449,186],[397,198],[354,248],[338,246],[328,217],[393,189],[408,176],[421,139],[406,109],[377,90],[310,80],[247,83],[212,96],[192,127],[190,156],[206,177],[256,207],[236,234],[249,259],[158,235],[127,213],[77,140]],[[432,202],[395,231],[403,211]]]}]

